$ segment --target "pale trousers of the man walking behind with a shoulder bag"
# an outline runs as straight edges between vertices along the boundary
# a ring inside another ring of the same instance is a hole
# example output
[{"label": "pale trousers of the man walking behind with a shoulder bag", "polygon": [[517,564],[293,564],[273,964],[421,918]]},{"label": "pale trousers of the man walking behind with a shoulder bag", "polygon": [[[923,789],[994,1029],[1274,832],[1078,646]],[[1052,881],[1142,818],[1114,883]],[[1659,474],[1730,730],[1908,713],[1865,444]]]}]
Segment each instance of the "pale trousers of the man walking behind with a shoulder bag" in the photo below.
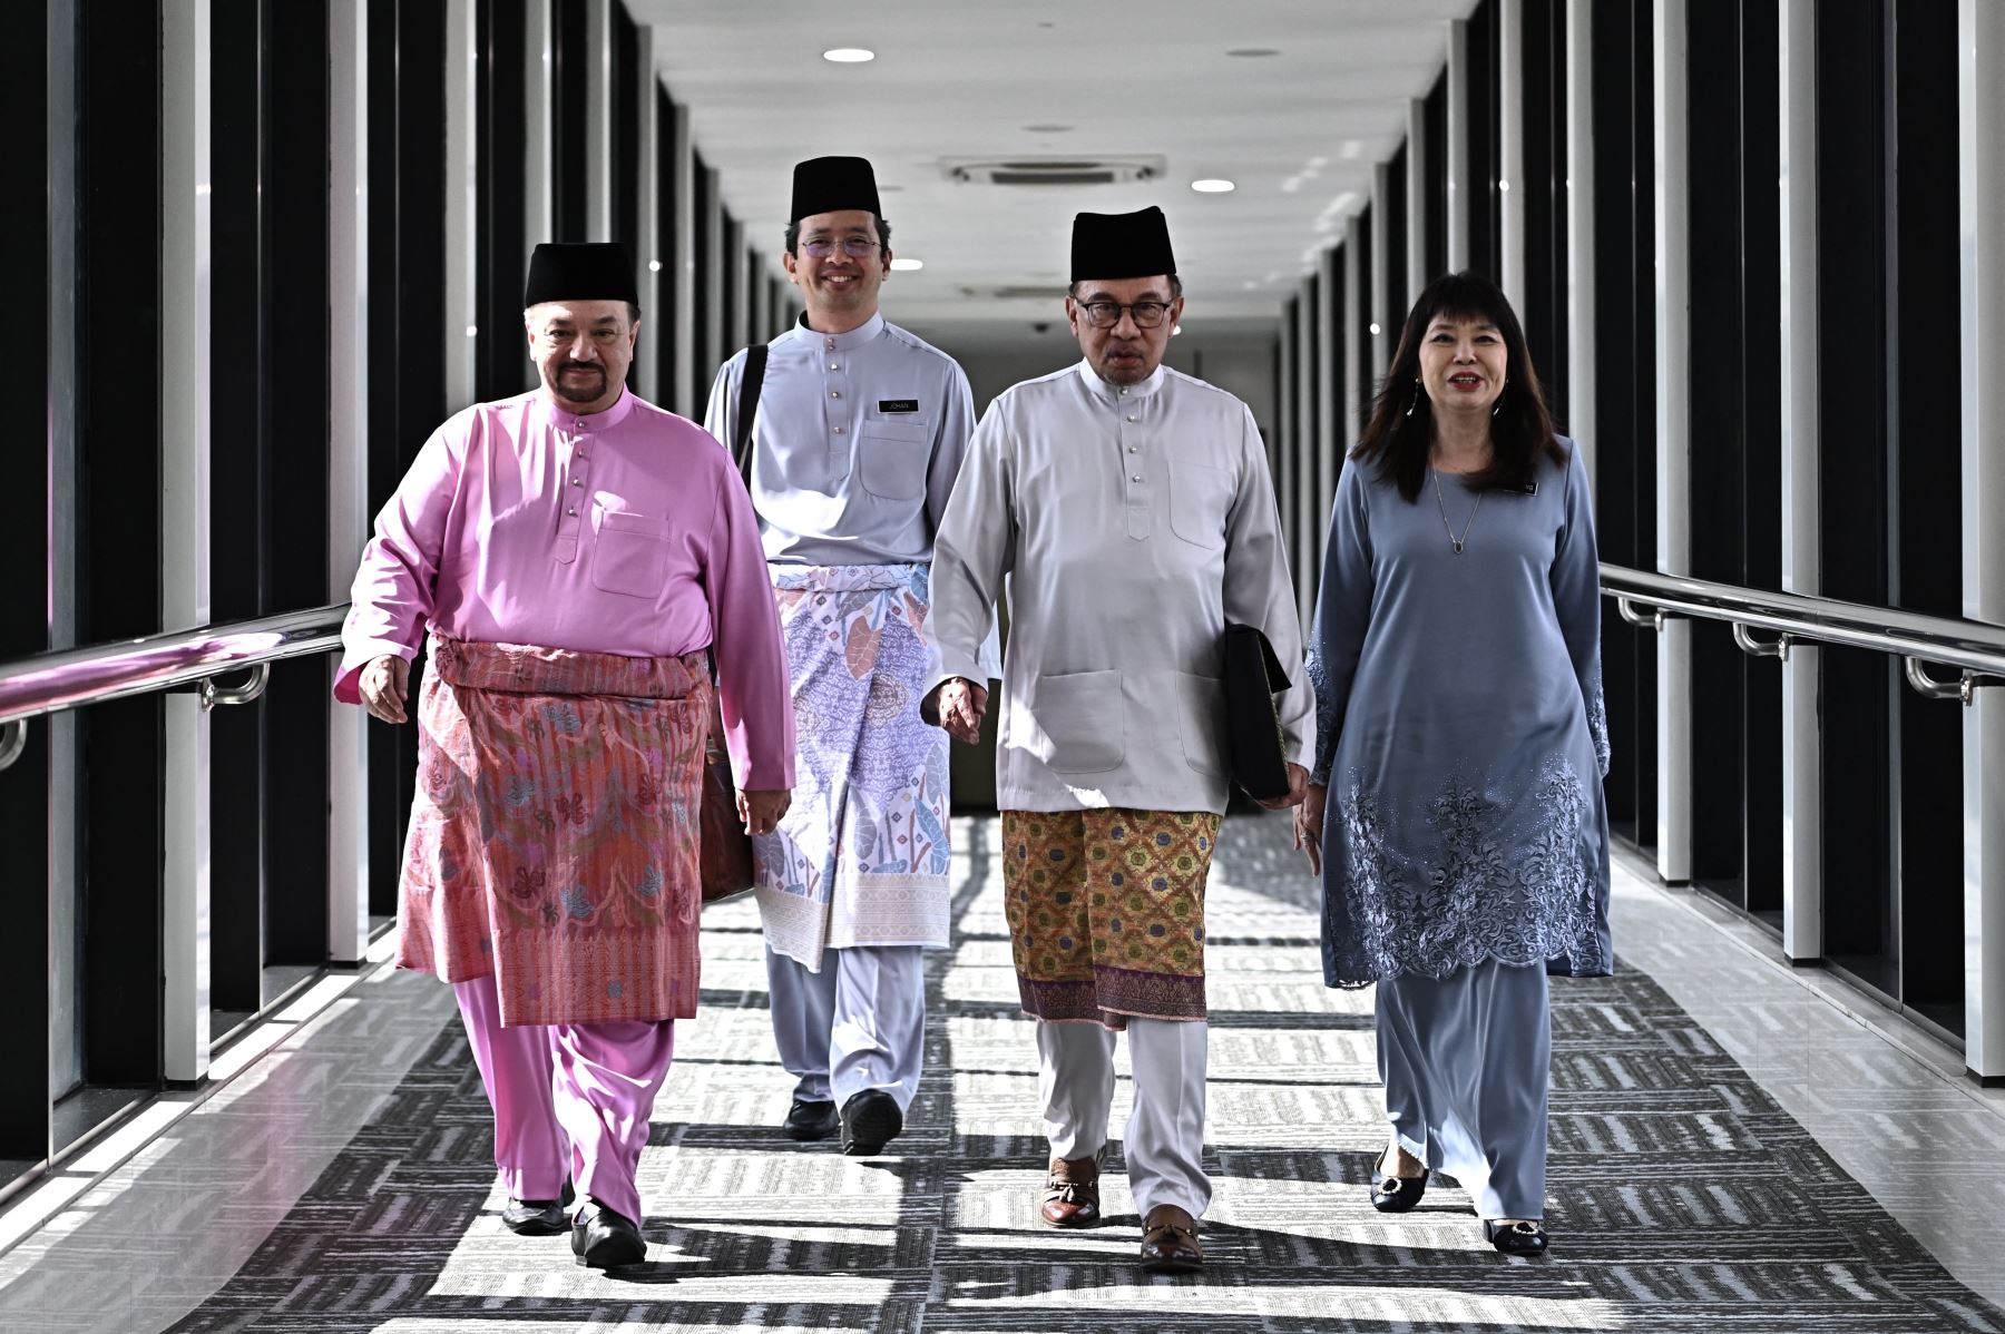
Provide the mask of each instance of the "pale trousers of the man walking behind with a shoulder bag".
[{"label": "pale trousers of the man walking behind with a shoulder bag", "polygon": [[766,949],[772,1036],[794,1098],[838,1108],[866,1088],[912,1106],[926,1064],[926,963],[918,945],[824,949],[822,971]]}]

